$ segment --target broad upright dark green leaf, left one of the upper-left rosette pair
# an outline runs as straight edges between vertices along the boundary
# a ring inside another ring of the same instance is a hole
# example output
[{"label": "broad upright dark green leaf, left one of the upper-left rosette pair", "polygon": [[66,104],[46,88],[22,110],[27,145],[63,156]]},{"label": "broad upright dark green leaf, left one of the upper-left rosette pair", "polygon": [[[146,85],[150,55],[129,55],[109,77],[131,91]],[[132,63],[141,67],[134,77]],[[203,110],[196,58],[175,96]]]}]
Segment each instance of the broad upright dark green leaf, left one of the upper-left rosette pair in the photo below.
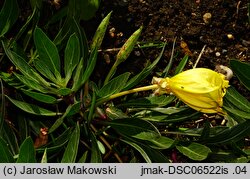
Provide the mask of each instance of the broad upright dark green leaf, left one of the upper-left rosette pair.
[{"label": "broad upright dark green leaf, left one of the upper-left rosette pair", "polygon": [[[61,82],[60,75],[60,57],[56,45],[46,36],[46,34],[40,29],[36,28],[34,31],[34,42],[39,54],[40,64],[46,64],[48,69],[55,75],[56,79]],[[45,74],[46,71],[43,71]],[[49,74],[46,74],[47,78]]]}]

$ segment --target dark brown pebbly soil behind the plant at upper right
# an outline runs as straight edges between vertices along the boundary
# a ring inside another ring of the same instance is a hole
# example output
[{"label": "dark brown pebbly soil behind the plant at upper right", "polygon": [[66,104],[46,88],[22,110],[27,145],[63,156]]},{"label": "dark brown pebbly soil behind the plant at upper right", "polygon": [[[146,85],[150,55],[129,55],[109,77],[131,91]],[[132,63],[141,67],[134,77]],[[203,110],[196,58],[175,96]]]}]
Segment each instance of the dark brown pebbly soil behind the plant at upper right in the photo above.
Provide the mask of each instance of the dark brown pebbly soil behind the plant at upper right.
[{"label": "dark brown pebbly soil behind the plant at upper right", "polygon": [[[217,64],[228,66],[230,59],[250,62],[250,19],[247,3],[247,0],[101,1],[96,16],[83,22],[83,27],[91,39],[102,18],[112,11],[103,49],[121,47],[136,29],[143,26],[140,42],[167,42],[156,71],[161,72],[166,67],[175,38],[173,69],[185,54],[190,58],[186,68],[192,68],[204,46],[205,50],[197,67],[215,69]],[[159,52],[159,48],[135,50],[119,70],[136,73],[147,60],[154,60]],[[97,68],[99,77],[105,76],[103,73],[111,67],[116,53],[102,53],[101,57],[106,61]],[[230,83],[250,99],[249,92],[240,85],[236,77]]]}]

